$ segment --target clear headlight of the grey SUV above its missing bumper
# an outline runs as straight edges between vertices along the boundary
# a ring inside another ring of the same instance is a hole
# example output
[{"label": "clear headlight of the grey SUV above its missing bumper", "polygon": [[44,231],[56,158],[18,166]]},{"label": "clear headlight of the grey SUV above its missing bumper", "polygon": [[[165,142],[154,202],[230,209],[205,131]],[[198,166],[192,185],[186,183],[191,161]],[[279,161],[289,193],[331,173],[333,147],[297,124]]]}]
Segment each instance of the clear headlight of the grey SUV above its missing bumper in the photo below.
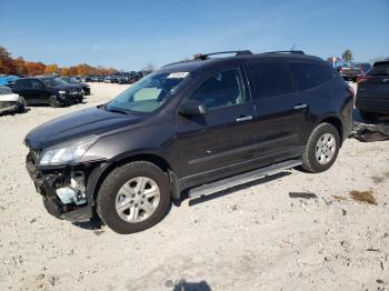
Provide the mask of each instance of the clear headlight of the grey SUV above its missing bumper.
[{"label": "clear headlight of the grey SUV above its missing bumper", "polygon": [[97,136],[90,136],[73,142],[67,142],[53,146],[43,150],[39,165],[54,165],[74,163],[94,144]]}]

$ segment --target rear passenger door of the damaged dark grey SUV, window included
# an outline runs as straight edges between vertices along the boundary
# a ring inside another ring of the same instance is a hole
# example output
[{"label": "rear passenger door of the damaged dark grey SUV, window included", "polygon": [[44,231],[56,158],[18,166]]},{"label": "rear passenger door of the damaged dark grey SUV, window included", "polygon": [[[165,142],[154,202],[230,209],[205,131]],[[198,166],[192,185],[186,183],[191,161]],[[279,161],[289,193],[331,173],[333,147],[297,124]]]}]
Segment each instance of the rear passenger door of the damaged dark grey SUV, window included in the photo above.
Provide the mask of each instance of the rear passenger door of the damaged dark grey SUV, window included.
[{"label": "rear passenger door of the damaged dark grey SUV, window included", "polygon": [[247,64],[256,107],[257,155],[268,162],[299,155],[308,103],[298,93],[285,62]]}]

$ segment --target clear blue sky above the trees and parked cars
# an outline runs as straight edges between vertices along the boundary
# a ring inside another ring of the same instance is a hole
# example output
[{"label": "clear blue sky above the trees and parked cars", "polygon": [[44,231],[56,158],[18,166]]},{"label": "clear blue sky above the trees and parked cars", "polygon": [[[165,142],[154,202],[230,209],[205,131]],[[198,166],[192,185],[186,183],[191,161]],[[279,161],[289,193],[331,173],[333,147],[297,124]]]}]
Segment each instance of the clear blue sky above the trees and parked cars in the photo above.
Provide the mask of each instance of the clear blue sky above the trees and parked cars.
[{"label": "clear blue sky above the trees and parked cars", "polygon": [[389,57],[389,0],[0,0],[13,57],[138,70],[197,52],[296,49]]}]

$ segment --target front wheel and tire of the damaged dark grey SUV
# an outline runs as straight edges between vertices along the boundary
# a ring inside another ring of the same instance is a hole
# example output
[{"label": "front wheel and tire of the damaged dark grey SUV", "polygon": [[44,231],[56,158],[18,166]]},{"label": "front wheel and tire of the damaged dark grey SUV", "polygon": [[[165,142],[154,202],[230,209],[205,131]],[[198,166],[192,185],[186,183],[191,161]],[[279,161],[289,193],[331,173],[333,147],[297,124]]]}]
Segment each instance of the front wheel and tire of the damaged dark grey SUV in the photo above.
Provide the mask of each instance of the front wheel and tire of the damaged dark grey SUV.
[{"label": "front wheel and tire of the damaged dark grey SUV", "polygon": [[110,172],[97,197],[100,219],[121,234],[157,224],[170,205],[168,175],[153,163],[130,162]]}]

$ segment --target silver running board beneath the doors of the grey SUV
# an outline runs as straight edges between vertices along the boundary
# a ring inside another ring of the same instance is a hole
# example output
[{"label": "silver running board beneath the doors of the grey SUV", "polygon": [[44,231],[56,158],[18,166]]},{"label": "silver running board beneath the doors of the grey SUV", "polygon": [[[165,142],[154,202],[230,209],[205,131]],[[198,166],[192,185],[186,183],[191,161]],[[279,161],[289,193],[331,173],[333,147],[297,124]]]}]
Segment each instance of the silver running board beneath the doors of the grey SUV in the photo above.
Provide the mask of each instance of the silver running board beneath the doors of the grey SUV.
[{"label": "silver running board beneath the doors of the grey SUV", "polygon": [[230,178],[226,178],[222,180],[218,180],[212,183],[202,184],[189,190],[189,198],[198,198],[201,195],[207,195],[211,193],[216,193],[222,190],[227,190],[229,188],[236,187],[238,184],[245,184],[251,181],[255,181],[263,175],[273,174],[280,172],[282,170],[287,170],[301,164],[301,160],[289,160],[279,163],[273,163],[271,165],[253,170],[250,172],[241,173],[238,175],[233,175]]}]

